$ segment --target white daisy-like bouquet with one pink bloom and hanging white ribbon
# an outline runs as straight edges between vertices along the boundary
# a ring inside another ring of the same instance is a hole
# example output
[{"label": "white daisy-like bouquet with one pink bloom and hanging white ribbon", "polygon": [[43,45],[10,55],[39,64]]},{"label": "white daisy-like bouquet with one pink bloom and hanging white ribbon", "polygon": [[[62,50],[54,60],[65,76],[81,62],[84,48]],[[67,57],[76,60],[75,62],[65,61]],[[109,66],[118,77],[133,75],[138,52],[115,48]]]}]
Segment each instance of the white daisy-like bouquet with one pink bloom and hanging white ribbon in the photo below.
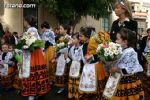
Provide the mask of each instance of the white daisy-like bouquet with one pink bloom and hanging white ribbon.
[{"label": "white daisy-like bouquet with one pink bloom and hanging white ribbon", "polygon": [[[115,66],[116,61],[120,58],[121,54],[122,48],[117,43],[109,42],[108,44],[99,44],[97,48],[98,58],[108,65],[106,68],[107,71]],[[110,99],[114,95],[120,78],[120,73],[114,73],[113,75],[109,76],[103,92],[105,97]]]}]

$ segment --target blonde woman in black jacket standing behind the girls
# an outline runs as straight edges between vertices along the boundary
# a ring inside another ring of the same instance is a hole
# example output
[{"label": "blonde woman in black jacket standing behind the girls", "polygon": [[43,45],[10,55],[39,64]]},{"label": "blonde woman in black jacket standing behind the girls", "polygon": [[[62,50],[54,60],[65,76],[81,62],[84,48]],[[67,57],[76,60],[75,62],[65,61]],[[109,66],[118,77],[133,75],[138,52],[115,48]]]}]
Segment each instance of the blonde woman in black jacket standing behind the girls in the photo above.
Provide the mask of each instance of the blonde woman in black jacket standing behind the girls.
[{"label": "blonde woman in black jacket standing behind the girls", "polygon": [[113,42],[116,41],[116,34],[122,28],[128,28],[137,34],[137,22],[132,19],[130,3],[127,0],[121,0],[116,3],[114,11],[116,16],[118,16],[118,19],[112,24],[110,31],[111,40]]}]

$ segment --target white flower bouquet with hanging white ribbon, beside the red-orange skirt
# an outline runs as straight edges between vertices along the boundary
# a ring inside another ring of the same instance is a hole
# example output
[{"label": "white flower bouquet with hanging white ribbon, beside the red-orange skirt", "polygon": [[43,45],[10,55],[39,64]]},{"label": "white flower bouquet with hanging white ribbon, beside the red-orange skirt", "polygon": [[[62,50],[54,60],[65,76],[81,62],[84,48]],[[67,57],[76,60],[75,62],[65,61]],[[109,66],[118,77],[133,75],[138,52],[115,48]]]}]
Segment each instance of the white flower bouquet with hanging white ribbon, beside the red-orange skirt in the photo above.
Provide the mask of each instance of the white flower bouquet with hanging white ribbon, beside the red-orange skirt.
[{"label": "white flower bouquet with hanging white ribbon, beside the red-orange skirt", "polygon": [[19,78],[28,78],[30,76],[30,58],[31,51],[36,48],[44,48],[45,43],[42,40],[38,40],[34,33],[25,32],[16,46],[17,49],[22,50],[22,55],[16,54],[16,60],[22,62],[21,68],[19,68]]}]

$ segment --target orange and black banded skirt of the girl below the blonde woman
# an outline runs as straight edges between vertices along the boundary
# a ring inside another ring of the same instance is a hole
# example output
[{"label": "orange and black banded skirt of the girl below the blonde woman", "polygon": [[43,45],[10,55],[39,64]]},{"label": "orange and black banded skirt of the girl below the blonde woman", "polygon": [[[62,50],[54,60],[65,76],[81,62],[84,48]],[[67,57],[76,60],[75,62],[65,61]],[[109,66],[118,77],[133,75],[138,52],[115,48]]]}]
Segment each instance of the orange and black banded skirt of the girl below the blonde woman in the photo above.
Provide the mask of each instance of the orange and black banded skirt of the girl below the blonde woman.
[{"label": "orange and black banded skirt of the girl below the blonde woman", "polygon": [[123,76],[111,100],[144,100],[144,91],[138,75]]}]

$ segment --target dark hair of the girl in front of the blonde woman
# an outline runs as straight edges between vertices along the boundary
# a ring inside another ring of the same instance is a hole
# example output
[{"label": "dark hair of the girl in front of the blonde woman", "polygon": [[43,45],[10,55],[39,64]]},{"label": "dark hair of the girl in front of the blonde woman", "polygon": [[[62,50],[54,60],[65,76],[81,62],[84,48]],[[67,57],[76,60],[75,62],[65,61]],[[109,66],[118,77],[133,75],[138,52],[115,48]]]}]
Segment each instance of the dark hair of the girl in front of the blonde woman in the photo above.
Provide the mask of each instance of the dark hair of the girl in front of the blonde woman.
[{"label": "dark hair of the girl in front of the blonde woman", "polygon": [[122,40],[127,40],[128,47],[136,47],[136,33],[127,28],[122,28],[118,34],[121,35]]}]

